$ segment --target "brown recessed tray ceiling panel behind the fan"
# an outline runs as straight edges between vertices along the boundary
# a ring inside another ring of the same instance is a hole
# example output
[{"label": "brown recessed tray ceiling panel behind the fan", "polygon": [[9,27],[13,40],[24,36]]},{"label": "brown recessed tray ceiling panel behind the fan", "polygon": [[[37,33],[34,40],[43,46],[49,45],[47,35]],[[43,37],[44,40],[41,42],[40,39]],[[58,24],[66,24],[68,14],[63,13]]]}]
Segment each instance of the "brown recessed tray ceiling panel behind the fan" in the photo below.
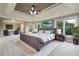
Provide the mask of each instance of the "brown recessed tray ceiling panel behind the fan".
[{"label": "brown recessed tray ceiling panel behind the fan", "polygon": [[30,14],[30,10],[32,8],[32,5],[35,6],[36,10],[44,10],[52,5],[54,5],[56,3],[17,3],[15,10],[23,12],[23,13],[27,13]]}]

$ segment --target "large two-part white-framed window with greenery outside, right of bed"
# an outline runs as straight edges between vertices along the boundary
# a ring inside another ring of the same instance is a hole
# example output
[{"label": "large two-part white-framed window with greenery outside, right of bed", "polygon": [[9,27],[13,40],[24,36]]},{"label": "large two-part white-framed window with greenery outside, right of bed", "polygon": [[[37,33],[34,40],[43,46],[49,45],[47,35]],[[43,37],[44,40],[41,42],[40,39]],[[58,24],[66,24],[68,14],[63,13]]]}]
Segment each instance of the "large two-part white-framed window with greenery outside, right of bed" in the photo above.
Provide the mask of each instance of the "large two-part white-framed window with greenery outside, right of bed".
[{"label": "large two-part white-framed window with greenery outside, right of bed", "polygon": [[64,35],[72,35],[72,27],[75,26],[75,19],[57,21],[57,28],[61,29]]}]

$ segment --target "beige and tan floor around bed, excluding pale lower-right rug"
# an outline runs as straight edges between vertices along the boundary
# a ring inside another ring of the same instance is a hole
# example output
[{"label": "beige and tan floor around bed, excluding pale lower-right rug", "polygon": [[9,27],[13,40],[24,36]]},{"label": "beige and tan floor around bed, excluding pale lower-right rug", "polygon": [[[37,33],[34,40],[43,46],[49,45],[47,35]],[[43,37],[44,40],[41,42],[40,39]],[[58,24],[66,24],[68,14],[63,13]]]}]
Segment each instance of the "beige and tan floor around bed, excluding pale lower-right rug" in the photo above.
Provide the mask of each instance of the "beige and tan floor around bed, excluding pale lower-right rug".
[{"label": "beige and tan floor around bed, excluding pale lower-right rug", "polygon": [[47,56],[61,44],[59,41],[52,41],[37,52],[28,44],[24,44],[18,39],[19,36],[0,38],[0,56]]}]

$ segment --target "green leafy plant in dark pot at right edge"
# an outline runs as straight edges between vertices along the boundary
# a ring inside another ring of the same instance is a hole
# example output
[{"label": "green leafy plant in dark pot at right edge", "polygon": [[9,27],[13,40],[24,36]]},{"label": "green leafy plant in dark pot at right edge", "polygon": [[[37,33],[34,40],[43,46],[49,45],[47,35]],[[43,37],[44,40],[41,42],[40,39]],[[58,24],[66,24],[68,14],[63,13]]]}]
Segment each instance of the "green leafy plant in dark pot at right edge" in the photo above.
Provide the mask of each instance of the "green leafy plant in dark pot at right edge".
[{"label": "green leafy plant in dark pot at right edge", "polygon": [[73,43],[78,44],[79,42],[79,27],[72,28],[72,35],[73,35]]}]

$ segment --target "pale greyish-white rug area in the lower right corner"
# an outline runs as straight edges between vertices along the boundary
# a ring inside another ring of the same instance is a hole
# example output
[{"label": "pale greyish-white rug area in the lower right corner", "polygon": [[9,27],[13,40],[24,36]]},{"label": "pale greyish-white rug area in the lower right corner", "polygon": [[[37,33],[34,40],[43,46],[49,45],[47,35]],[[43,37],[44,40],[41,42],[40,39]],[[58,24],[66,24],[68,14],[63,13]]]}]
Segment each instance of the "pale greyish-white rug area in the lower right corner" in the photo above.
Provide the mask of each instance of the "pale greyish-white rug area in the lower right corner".
[{"label": "pale greyish-white rug area in the lower right corner", "polygon": [[49,56],[79,56],[79,45],[62,42]]}]

